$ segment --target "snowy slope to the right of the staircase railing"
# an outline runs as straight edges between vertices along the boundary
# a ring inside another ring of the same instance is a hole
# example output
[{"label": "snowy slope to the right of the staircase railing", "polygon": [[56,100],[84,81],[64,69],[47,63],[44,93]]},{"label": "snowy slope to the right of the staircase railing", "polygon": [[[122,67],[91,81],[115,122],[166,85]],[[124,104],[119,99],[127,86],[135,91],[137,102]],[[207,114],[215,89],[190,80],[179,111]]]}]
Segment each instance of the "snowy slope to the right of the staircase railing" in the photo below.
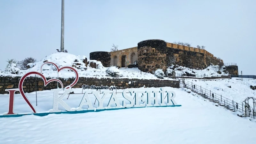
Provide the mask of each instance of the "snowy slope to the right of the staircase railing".
[{"label": "snowy slope to the right of the staircase railing", "polygon": [[[256,98],[256,90],[252,90],[250,85],[256,86],[256,79],[233,77],[231,79],[216,79],[216,80],[198,80],[186,79],[193,84],[201,85],[203,88],[211,90],[223,97],[242,103],[247,97]],[[228,86],[231,86],[228,87]],[[251,105],[251,104],[250,104]]]}]

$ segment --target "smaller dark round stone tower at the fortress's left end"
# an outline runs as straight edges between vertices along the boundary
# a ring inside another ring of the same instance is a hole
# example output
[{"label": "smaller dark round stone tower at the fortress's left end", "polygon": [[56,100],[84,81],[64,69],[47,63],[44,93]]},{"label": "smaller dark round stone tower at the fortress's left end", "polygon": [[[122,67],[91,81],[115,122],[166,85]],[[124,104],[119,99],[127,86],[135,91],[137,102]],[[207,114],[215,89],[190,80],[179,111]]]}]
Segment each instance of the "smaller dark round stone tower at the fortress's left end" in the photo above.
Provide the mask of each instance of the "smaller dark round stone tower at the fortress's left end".
[{"label": "smaller dark round stone tower at the fortress's left end", "polygon": [[102,63],[104,67],[109,67],[110,65],[110,53],[109,52],[91,52],[90,60],[98,60]]}]

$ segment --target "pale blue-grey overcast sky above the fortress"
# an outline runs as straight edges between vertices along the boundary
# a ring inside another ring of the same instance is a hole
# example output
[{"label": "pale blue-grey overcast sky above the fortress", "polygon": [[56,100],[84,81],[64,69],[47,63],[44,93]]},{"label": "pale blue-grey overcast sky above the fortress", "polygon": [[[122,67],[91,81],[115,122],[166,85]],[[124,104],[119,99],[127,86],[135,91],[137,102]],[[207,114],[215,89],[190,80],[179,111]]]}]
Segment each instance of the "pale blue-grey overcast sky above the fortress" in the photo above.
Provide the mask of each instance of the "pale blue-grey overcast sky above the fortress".
[{"label": "pale blue-grey overcast sky above the fortress", "polygon": [[[64,48],[75,55],[147,39],[204,45],[244,75],[256,75],[255,0],[65,0]],[[0,69],[60,49],[61,0],[0,1]]]}]

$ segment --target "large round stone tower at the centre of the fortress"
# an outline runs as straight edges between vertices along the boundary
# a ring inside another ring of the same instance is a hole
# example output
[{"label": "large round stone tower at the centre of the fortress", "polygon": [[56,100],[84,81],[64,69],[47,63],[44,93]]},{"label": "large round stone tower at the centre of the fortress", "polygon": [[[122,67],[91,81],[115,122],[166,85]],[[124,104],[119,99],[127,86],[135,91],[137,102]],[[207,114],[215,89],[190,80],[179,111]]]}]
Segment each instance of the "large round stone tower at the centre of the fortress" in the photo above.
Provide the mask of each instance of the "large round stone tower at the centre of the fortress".
[{"label": "large round stone tower at the centre of the fortress", "polygon": [[144,72],[155,73],[163,69],[166,73],[166,42],[146,40],[138,43],[138,68]]}]

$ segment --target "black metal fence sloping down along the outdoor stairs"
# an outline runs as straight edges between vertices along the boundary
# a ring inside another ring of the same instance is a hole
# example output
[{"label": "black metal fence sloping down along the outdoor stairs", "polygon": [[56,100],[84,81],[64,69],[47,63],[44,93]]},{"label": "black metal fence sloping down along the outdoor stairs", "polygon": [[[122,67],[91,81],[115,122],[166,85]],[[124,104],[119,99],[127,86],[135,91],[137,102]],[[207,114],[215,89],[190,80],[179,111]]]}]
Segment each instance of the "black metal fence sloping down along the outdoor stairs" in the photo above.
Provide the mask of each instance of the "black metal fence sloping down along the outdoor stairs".
[{"label": "black metal fence sloping down along the outdoor stairs", "polygon": [[240,104],[238,102],[235,102],[234,100],[230,100],[226,97],[223,97],[222,95],[219,95],[215,92],[212,92],[211,90],[205,89],[202,86],[193,84],[193,82],[189,82],[188,80],[185,79],[180,79],[180,85],[182,87],[190,88],[197,93],[205,94],[205,96],[209,97],[212,99],[212,101],[218,101],[218,103],[222,104],[225,108],[228,109],[233,109],[233,111],[239,111],[242,113],[246,113],[247,116],[249,117],[256,117],[256,112],[254,109],[248,109],[245,111],[245,106],[244,104]]}]

